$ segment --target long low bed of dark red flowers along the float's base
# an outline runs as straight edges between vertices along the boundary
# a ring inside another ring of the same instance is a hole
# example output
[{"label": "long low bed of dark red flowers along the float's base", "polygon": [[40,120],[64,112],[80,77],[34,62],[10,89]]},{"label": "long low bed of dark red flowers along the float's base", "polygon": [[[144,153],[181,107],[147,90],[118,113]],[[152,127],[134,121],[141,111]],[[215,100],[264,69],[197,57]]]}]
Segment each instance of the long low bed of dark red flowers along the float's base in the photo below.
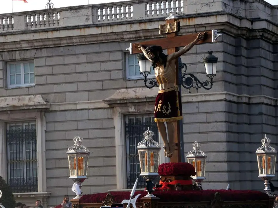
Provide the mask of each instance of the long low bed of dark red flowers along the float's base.
[{"label": "long low bed of dark red flowers along the float's base", "polygon": [[[199,201],[211,201],[214,198],[214,194],[220,192],[221,199],[223,201],[264,201],[269,200],[269,196],[266,193],[259,191],[249,190],[200,190],[200,191],[155,191],[153,194],[160,198],[162,202],[199,202]],[[88,194],[83,195],[80,203],[102,203],[107,193],[100,194]],[[117,203],[121,203],[124,199],[129,199],[130,192],[111,192],[115,197]],[[141,202],[141,198],[146,196],[146,191],[135,192],[134,196],[141,194],[138,198],[138,202]]]}]

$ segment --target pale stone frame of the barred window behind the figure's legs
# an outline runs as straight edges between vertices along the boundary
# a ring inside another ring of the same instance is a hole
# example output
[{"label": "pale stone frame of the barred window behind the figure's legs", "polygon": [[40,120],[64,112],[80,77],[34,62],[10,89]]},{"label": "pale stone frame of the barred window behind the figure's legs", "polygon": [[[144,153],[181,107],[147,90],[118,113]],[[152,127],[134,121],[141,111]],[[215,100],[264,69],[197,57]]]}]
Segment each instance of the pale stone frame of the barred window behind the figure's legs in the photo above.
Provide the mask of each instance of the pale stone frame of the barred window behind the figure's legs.
[{"label": "pale stone frame of the barred window behind the figure's legs", "polygon": [[[126,189],[127,171],[126,171],[126,145],[125,145],[125,140],[126,140],[125,115],[152,114],[153,112],[154,112],[154,105],[148,103],[143,103],[143,105],[141,104],[141,106],[137,105],[135,107],[123,105],[114,108],[113,117],[114,117],[114,125],[115,125],[117,190],[127,190]],[[160,134],[159,134],[159,143],[160,146],[162,147],[163,140]],[[164,157],[164,151],[160,151],[160,164],[165,162],[169,162],[169,159]]]}]

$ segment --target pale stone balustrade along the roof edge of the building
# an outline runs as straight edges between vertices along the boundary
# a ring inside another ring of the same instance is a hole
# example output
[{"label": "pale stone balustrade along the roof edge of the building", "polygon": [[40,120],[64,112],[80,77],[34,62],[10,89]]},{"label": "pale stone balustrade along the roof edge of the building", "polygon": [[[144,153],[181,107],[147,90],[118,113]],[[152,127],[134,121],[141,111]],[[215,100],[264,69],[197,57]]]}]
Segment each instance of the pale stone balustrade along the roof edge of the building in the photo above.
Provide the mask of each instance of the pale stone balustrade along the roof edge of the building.
[{"label": "pale stone balustrade along the roof edge of the building", "polygon": [[261,18],[278,23],[278,5],[272,6],[263,0],[132,0],[1,14],[0,32],[134,21],[166,17],[170,12],[176,15],[229,12],[244,18]]}]

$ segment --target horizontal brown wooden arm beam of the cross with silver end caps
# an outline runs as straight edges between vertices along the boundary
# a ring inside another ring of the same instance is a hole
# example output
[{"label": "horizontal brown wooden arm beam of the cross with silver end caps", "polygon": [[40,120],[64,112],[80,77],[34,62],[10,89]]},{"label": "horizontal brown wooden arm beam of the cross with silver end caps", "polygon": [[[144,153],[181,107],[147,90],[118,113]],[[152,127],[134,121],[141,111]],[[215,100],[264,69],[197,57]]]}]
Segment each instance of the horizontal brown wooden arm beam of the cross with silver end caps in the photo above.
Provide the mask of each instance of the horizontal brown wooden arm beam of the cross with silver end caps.
[{"label": "horizontal brown wooden arm beam of the cross with silver end caps", "polygon": [[[198,35],[198,33],[176,36],[176,37],[161,38],[161,39],[157,39],[157,40],[140,42],[140,44],[144,48],[151,46],[151,45],[161,46],[162,49],[183,47],[183,46],[188,45],[192,41],[194,41],[195,38],[197,37],[197,35]],[[216,40],[219,36],[221,36],[221,34],[218,34],[217,30],[208,31],[205,39],[199,41],[197,44],[216,42]],[[130,43],[130,47],[127,48],[126,50],[130,51],[130,54],[142,53],[141,50],[138,50],[135,48],[135,43]]]}]

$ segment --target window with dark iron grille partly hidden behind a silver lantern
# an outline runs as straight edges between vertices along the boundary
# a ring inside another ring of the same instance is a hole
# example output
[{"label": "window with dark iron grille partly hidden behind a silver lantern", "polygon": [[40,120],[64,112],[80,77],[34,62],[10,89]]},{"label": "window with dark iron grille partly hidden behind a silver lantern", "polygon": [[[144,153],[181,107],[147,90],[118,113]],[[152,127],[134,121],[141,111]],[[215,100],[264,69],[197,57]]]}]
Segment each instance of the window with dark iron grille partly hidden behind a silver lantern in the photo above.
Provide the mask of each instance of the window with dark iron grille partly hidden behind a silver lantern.
[{"label": "window with dark iron grille partly hidden behind a silver lantern", "polygon": [[[143,133],[148,127],[154,132],[153,139],[158,142],[158,128],[154,122],[153,114],[126,115],[126,169],[127,169],[127,188],[131,189],[137,179],[137,188],[145,188],[146,180],[139,176],[141,173],[137,144],[143,140]],[[157,181],[158,181],[157,177]],[[156,183],[157,181],[154,181]]]}]

